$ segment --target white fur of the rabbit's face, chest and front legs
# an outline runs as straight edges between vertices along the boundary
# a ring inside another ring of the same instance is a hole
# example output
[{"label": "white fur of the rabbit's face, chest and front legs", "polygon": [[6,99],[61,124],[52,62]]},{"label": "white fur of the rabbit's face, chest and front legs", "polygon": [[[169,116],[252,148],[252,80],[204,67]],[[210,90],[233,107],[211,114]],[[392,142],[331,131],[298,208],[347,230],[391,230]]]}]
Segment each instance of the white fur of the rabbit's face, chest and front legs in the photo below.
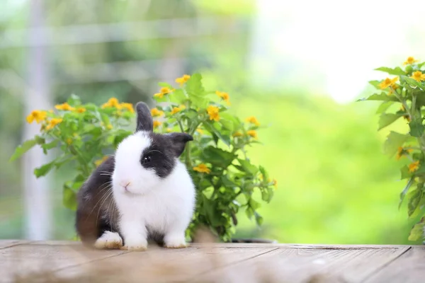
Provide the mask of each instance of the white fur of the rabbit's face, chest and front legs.
[{"label": "white fur of the rabbit's face, chest and front legs", "polygon": [[142,167],[142,151],[151,142],[146,132],[137,132],[124,139],[115,153],[113,195],[120,212],[118,225],[124,248],[146,249],[147,227],[164,233],[166,247],[183,248],[195,206],[195,187],[178,158],[164,179]]}]

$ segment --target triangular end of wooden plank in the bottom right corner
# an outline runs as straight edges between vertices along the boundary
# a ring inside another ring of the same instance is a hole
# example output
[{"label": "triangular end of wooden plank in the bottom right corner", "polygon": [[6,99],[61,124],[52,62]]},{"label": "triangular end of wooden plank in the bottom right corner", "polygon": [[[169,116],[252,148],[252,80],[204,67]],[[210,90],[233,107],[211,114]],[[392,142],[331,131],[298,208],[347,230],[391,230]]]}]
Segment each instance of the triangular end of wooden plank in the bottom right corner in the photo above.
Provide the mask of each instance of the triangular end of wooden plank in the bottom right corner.
[{"label": "triangular end of wooden plank in the bottom right corner", "polygon": [[365,282],[425,282],[425,246],[413,246],[399,258],[382,267]]}]

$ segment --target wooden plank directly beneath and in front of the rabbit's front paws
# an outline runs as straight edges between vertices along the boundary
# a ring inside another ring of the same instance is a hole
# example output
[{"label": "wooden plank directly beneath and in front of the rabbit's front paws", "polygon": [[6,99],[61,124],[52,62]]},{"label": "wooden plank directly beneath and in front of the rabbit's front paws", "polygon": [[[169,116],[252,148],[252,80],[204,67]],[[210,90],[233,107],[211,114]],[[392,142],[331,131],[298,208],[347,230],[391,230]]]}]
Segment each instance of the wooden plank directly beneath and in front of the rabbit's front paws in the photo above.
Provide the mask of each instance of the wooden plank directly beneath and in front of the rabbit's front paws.
[{"label": "wooden plank directly beneath and in front of the rabbit's front paws", "polygon": [[[268,253],[273,248],[220,248],[214,246],[166,249],[150,246],[145,252],[131,252],[57,272],[60,277],[96,275],[96,282],[186,282],[200,273]],[[111,272],[113,270],[114,272]],[[105,277],[101,277],[105,275]],[[137,280],[138,279],[138,280]]]}]

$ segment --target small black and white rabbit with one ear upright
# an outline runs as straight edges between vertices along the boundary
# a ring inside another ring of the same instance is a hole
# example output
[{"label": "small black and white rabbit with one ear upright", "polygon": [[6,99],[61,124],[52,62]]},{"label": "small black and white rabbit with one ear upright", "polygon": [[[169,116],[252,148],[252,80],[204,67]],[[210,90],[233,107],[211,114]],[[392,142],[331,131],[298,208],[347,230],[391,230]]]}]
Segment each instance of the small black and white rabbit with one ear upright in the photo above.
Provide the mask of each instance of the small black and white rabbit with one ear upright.
[{"label": "small black and white rabbit with one ear upright", "polygon": [[146,250],[148,240],[185,248],[196,190],[179,161],[190,134],[153,132],[148,106],[136,105],[135,132],[118,144],[77,194],[76,229],[94,248]]}]

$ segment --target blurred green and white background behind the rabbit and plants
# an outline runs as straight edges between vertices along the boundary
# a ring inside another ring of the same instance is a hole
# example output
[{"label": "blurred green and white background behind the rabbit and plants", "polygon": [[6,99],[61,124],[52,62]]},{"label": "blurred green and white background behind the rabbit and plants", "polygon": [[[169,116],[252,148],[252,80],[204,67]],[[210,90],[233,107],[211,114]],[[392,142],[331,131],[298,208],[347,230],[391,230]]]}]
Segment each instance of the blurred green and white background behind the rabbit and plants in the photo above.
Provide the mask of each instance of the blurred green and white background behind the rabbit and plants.
[{"label": "blurred green and white background behind the rabbit and plants", "polygon": [[[273,6],[273,1],[3,0],[2,5],[0,238],[31,235],[23,163],[8,163],[23,139],[31,72],[47,74],[50,105],[72,93],[84,102],[103,103],[115,96],[152,105],[158,81],[174,83],[182,74],[200,72],[206,88],[229,93],[232,112],[242,118],[254,115],[268,126],[259,131],[263,145],[249,154],[278,180],[278,188],[272,202],[259,209],[261,229],[241,212],[237,237],[409,243],[416,219],[408,220],[404,207],[398,209],[404,161],[382,153],[389,129],[377,132],[377,104],[355,101],[372,91],[368,81],[382,78],[374,68],[420,57],[421,40],[406,36],[403,46],[378,50],[370,47],[378,32],[365,31],[370,23],[348,19],[343,29],[354,31],[354,39],[332,42],[339,30],[323,27],[348,13],[338,6],[336,18],[319,23],[310,13],[297,20],[300,6]],[[371,8],[358,9],[368,15]],[[29,29],[37,21],[42,28]],[[305,25],[318,26],[306,32]],[[409,30],[409,35],[412,25],[399,23],[394,33]],[[31,33],[45,36],[31,41]],[[344,50],[345,44],[351,49]],[[30,50],[37,48],[47,59],[31,69],[31,56],[39,54]],[[394,127],[404,130],[405,125],[400,120]],[[61,168],[49,175],[48,238],[74,236],[74,215],[62,207],[60,185],[70,171]]]}]

